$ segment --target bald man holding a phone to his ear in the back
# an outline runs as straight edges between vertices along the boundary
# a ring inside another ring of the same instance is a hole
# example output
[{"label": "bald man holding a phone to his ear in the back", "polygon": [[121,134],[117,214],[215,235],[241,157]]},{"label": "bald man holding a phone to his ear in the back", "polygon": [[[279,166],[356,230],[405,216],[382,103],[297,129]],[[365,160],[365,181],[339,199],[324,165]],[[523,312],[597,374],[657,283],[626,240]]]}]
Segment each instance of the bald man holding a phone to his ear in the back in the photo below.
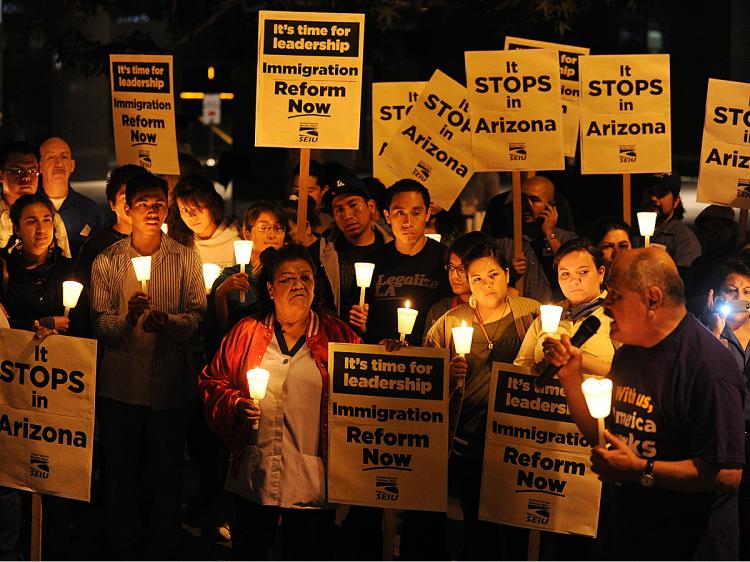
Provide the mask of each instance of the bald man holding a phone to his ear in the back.
[{"label": "bald man holding a phone to his ear in the back", "polygon": [[513,264],[511,283],[524,276],[523,296],[549,303],[562,299],[555,274],[555,254],[560,246],[577,238],[575,232],[557,227],[555,184],[544,176],[527,178],[521,185],[523,256],[513,255],[513,233],[498,242],[508,263]]}]

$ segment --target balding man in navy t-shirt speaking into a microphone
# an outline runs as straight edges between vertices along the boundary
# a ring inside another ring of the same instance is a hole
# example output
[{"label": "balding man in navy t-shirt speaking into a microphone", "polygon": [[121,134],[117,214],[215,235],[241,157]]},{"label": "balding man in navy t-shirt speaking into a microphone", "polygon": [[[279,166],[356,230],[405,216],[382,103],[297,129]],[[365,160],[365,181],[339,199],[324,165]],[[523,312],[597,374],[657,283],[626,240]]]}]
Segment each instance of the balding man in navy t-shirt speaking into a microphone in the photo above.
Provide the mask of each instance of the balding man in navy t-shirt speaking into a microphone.
[{"label": "balding man in navy t-shirt speaking into a microphone", "polygon": [[[737,489],[745,462],[745,388],[729,351],[685,308],[677,266],[660,248],[614,262],[604,307],[617,351],[607,447],[592,470],[611,486],[604,556],[737,559]],[[581,391],[581,350],[562,336],[549,360],[578,427],[597,442]]]}]

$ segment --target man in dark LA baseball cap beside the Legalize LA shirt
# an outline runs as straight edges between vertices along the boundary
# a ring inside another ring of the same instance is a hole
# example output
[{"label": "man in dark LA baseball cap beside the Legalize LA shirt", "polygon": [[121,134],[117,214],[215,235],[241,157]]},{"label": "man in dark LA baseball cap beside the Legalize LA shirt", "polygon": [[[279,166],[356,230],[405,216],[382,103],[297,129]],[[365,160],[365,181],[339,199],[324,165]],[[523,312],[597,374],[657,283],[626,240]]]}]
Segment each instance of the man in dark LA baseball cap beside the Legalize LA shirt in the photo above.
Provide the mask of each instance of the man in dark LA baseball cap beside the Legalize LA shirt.
[{"label": "man in dark LA baseball cap beside the Legalize LA shirt", "polygon": [[372,221],[375,202],[362,180],[353,176],[339,178],[330,189],[334,225],[329,235],[309,250],[319,260],[323,305],[347,319],[359,294],[354,263],[372,261],[368,256],[393,237]]}]

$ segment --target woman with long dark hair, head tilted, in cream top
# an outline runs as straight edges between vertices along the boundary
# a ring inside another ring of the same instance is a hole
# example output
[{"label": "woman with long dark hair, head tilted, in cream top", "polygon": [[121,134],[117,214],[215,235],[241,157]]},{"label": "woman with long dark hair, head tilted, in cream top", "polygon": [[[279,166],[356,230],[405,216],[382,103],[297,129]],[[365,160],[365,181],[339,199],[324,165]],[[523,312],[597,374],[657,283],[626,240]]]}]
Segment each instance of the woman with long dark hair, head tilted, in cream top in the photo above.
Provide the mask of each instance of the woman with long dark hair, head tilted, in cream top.
[{"label": "woman with long dark hair, head tilted, in cream top", "polygon": [[202,263],[221,267],[234,264],[237,228],[224,218],[224,201],[211,181],[202,175],[182,178],[174,189],[167,216],[170,238],[195,248]]}]

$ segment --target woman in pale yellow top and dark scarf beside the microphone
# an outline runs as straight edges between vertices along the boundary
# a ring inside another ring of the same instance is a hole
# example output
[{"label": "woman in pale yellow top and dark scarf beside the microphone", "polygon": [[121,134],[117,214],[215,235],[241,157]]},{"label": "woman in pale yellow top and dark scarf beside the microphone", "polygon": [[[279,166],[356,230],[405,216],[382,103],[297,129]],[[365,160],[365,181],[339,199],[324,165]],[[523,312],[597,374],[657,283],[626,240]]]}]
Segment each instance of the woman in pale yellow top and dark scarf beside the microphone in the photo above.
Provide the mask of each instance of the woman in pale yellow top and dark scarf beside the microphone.
[{"label": "woman in pale yellow top and dark scarf beside the microphone", "polygon": [[[606,291],[602,291],[605,272],[602,252],[585,238],[570,240],[557,251],[555,269],[565,299],[557,303],[563,307],[563,312],[553,337],[559,337],[559,334],[572,336],[586,318],[596,316],[601,321],[601,327],[581,346],[583,372],[584,376],[604,377],[609,374],[615,345],[609,337],[612,319],[605,315],[602,307],[607,295]],[[515,360],[516,365],[525,365],[541,372],[547,365],[544,339],[549,335],[542,331],[541,318],[535,320],[526,332]]]}]

